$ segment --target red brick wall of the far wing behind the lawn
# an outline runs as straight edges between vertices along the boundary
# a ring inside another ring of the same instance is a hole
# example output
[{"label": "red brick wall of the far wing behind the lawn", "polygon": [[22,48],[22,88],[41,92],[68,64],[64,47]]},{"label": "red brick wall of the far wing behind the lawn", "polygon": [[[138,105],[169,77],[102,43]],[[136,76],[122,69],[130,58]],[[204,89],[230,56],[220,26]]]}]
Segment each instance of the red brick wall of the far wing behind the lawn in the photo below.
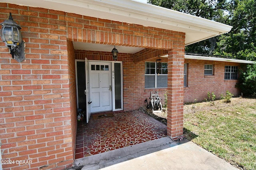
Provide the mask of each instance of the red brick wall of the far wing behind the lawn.
[{"label": "red brick wall of the far wing behind the lawn", "polygon": [[[220,61],[204,61],[185,59],[188,63],[187,87],[184,88],[184,102],[202,101],[208,99],[207,92],[214,92],[216,98],[220,98],[220,94],[225,94],[226,90],[239,96],[240,91],[235,88],[238,80],[224,80],[225,65],[239,66],[240,63],[220,62]],[[214,75],[204,76],[204,64],[214,65]]]}]

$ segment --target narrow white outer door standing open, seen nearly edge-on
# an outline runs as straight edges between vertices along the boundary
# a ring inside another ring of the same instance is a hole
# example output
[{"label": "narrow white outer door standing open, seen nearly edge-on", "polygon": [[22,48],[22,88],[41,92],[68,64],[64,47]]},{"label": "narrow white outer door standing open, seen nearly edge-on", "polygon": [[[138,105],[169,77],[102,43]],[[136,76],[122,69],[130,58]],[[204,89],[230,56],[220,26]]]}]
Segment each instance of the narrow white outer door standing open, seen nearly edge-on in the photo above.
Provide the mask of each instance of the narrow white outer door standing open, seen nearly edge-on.
[{"label": "narrow white outer door standing open, seen nearly edge-on", "polygon": [[90,81],[89,81],[89,62],[85,58],[85,82],[86,82],[86,90],[84,91],[84,94],[86,95],[86,122],[89,122],[91,110],[90,110],[90,104],[92,103],[90,101]]}]

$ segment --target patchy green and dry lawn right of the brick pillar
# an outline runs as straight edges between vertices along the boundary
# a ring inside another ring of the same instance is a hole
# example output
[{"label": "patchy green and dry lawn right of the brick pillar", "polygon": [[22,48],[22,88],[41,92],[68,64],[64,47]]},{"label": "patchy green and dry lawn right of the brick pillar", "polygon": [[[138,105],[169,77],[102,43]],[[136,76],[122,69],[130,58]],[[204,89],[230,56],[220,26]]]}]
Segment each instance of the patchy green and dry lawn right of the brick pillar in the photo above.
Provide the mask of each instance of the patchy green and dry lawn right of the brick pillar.
[{"label": "patchy green and dry lawn right of the brick pillar", "polygon": [[187,139],[243,170],[256,170],[256,99],[184,106]]}]

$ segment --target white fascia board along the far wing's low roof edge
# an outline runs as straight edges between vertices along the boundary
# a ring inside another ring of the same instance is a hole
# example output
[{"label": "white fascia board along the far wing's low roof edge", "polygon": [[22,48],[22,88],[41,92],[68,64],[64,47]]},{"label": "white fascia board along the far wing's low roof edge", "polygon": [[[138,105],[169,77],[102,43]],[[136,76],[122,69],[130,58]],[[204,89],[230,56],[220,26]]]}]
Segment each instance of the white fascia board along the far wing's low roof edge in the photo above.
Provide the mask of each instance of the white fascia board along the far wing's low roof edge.
[{"label": "white fascia board along the far wing's low roof edge", "polygon": [[226,59],[226,58],[206,57],[206,56],[196,56],[196,55],[185,55],[184,57],[185,59],[192,59],[192,60],[208,60],[208,61],[222,61],[222,62],[231,62],[231,63],[256,64],[255,61],[249,61],[249,60]]}]

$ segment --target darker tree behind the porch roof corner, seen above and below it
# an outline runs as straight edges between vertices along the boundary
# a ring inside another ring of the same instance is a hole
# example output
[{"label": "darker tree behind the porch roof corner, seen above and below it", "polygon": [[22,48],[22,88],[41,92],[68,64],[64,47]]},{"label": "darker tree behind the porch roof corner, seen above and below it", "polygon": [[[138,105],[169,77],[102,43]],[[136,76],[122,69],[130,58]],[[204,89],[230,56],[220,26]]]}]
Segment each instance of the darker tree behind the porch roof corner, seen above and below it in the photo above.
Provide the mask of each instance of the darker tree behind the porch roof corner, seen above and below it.
[{"label": "darker tree behind the porch roof corner, seen above and below it", "polygon": [[[149,0],[148,2],[164,8],[226,24],[230,19],[230,11],[234,8],[233,0]],[[218,38],[210,38],[186,46],[185,51],[213,54],[216,42],[218,42]]]}]

